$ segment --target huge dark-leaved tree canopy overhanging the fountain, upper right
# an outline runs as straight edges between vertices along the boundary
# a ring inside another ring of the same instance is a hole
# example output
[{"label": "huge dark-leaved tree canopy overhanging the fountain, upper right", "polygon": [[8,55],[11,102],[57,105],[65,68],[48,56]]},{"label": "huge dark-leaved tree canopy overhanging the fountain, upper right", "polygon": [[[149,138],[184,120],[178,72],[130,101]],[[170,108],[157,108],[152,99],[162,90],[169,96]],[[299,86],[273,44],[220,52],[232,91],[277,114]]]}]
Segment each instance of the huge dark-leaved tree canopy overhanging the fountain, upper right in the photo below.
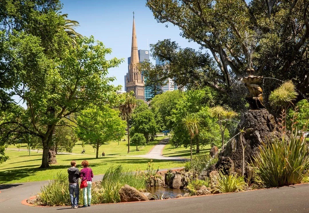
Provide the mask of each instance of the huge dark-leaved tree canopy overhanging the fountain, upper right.
[{"label": "huge dark-leaved tree canopy overhanging the fountain, upper right", "polygon": [[[253,68],[256,75],[292,80],[303,94],[295,102],[308,99],[307,1],[147,0],[146,6],[158,22],[178,26],[201,45],[201,51],[170,40],[152,45],[154,56],[170,61],[168,76],[178,86],[210,86],[232,97],[238,79]],[[274,87],[269,81],[268,92]]]}]

